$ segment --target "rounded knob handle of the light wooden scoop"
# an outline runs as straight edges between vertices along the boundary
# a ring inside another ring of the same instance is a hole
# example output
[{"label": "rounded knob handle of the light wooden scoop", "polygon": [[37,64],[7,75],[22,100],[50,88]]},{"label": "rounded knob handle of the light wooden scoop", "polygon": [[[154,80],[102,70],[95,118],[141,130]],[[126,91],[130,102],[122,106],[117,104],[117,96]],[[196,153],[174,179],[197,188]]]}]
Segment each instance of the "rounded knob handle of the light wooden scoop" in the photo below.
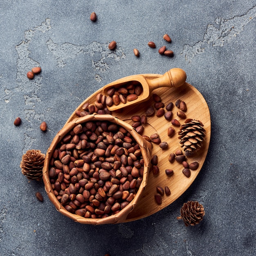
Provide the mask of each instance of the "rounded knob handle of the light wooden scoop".
[{"label": "rounded knob handle of the light wooden scoop", "polygon": [[178,88],[186,81],[186,72],[181,68],[171,68],[162,76],[155,79],[146,79],[150,90],[155,90],[160,87],[175,87]]}]

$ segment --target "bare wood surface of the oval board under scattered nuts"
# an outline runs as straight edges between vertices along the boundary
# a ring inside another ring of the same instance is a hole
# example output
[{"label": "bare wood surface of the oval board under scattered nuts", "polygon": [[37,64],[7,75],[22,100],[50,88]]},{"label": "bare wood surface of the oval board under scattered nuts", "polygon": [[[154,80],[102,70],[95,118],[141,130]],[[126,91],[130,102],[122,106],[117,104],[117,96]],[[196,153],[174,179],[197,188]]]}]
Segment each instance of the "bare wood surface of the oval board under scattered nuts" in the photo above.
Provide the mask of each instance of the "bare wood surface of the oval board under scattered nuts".
[{"label": "bare wood surface of the oval board under scattered nuts", "polygon": [[[148,79],[154,79],[159,77],[159,74],[144,74]],[[86,102],[94,103],[96,101],[97,94],[102,93],[102,89],[94,92],[90,97],[85,99],[83,103],[80,104],[76,110],[82,110],[82,106]],[[195,120],[200,120],[204,124],[204,129],[206,130],[206,140],[203,141],[203,146],[198,150],[193,156],[186,157],[186,161],[188,163],[198,162],[199,167],[195,171],[191,171],[191,176],[187,178],[182,173],[183,166],[182,164],[177,163],[170,163],[168,161],[168,157],[170,153],[175,153],[177,149],[182,149],[181,144],[179,143],[178,139],[178,131],[180,128],[175,127],[171,124],[171,121],[167,121],[164,117],[156,117],[153,115],[152,117],[147,118],[147,124],[144,125],[144,132],[143,135],[150,136],[153,133],[158,133],[159,137],[162,141],[166,141],[168,143],[168,148],[162,150],[159,145],[153,144],[152,148],[152,156],[158,156],[158,167],[159,167],[159,175],[153,175],[152,171],[149,173],[148,176],[148,184],[146,189],[141,197],[141,199],[137,202],[135,209],[128,215],[125,222],[139,220],[141,218],[150,216],[157,211],[165,208],[173,201],[182,195],[186,189],[192,184],[195,180],[196,176],[200,172],[202,165],[204,164],[204,160],[207,155],[207,151],[209,148],[210,136],[211,136],[211,119],[210,119],[210,112],[208,105],[198,90],[196,90],[192,85],[189,83],[185,83],[180,88],[159,88],[153,91],[153,93],[158,94],[162,98],[162,102],[165,106],[173,102],[173,118],[180,121],[181,125],[184,124],[185,119],[181,119],[177,117],[176,113],[179,110],[175,106],[175,101],[177,99],[181,99],[187,105],[186,118],[192,118]],[[144,103],[139,103],[135,106],[130,106],[124,108],[122,113],[111,112],[114,117],[118,117],[119,119],[132,124],[132,120],[130,119],[133,115],[144,115],[147,108],[149,106],[154,105],[154,101],[152,97]],[[67,123],[72,121],[74,118],[77,118],[76,110],[67,120]],[[173,126],[175,128],[175,135],[173,137],[168,137],[167,129],[169,126]],[[172,169],[174,171],[174,175],[168,177],[165,173],[166,169]],[[156,193],[156,187],[161,186],[164,188],[168,186],[171,190],[171,195],[162,197],[162,204],[158,205],[155,202],[154,195]]]}]

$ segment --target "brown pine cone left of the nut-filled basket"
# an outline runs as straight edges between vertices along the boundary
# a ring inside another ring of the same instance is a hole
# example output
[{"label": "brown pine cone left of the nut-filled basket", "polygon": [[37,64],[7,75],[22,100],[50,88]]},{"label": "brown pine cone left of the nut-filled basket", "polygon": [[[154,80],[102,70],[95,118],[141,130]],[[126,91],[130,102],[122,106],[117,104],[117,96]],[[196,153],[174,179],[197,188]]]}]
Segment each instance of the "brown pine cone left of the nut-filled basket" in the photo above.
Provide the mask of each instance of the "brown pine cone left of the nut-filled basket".
[{"label": "brown pine cone left of the nut-filled basket", "polygon": [[20,168],[29,180],[40,181],[43,177],[43,166],[45,162],[45,154],[40,150],[27,150],[26,154],[22,155]]}]

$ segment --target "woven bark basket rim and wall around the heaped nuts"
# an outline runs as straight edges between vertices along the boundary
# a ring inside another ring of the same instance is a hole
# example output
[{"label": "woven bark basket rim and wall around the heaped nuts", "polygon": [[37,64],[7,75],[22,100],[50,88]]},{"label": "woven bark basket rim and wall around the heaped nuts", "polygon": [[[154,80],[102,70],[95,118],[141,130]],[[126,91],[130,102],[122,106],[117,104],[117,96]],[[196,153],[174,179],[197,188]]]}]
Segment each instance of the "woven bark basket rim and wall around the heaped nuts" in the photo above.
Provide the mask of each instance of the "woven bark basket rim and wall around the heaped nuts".
[{"label": "woven bark basket rim and wall around the heaped nuts", "polygon": [[[141,149],[142,157],[144,159],[143,180],[133,200],[126,207],[124,207],[124,209],[121,209],[121,211],[119,211],[118,213],[110,215],[106,218],[85,218],[75,213],[71,213],[67,211],[65,207],[56,198],[56,195],[54,194],[54,190],[52,188],[50,178],[49,178],[49,165],[50,165],[52,155],[54,153],[56,146],[63,139],[63,137],[65,137],[65,135],[67,135],[67,133],[70,132],[75,126],[77,126],[78,124],[83,124],[88,121],[102,121],[102,120],[110,121],[114,124],[118,124],[119,126],[122,126],[128,132],[130,132],[132,137],[137,141]],[[50,201],[54,204],[57,211],[60,211],[64,216],[67,216],[72,220],[79,222],[81,224],[99,225],[99,224],[115,224],[119,222],[124,222],[128,214],[132,212],[138,200],[141,198],[143,191],[146,187],[146,184],[148,182],[150,159],[151,159],[151,144],[149,144],[148,141],[146,141],[143,137],[141,137],[141,135],[139,135],[136,132],[136,130],[132,128],[130,124],[118,119],[117,117],[113,117],[112,115],[93,114],[93,115],[86,115],[85,117],[75,118],[75,119],[72,119],[72,121],[67,122],[63,126],[63,128],[54,137],[52,144],[49,146],[47,150],[47,153],[45,156],[44,168],[43,168],[43,182],[45,184],[45,191],[47,192],[47,195]]]}]

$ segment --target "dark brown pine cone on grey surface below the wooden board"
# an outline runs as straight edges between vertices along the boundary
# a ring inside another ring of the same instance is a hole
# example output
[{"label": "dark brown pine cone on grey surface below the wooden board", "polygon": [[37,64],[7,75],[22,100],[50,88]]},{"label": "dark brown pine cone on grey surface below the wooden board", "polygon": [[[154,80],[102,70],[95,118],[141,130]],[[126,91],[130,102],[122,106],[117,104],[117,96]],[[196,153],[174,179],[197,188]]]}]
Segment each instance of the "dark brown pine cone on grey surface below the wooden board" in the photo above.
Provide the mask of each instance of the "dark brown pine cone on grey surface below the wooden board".
[{"label": "dark brown pine cone on grey surface below the wooden board", "polygon": [[195,224],[198,224],[203,219],[204,207],[197,201],[189,201],[183,204],[180,209],[180,215],[177,219],[184,220],[186,227],[189,225],[195,226]]}]

